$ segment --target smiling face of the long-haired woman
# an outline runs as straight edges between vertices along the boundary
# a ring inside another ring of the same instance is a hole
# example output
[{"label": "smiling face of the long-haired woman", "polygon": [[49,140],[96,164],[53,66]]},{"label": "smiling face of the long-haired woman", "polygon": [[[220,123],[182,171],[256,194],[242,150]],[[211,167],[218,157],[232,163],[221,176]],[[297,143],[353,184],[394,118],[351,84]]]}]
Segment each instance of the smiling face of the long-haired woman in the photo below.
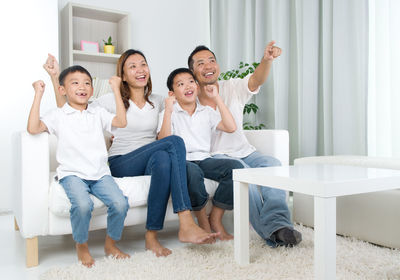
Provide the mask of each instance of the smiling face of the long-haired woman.
[{"label": "smiling face of the long-haired woman", "polygon": [[126,81],[130,87],[144,88],[150,77],[149,66],[146,60],[140,54],[133,54],[128,57],[123,66],[123,81]]}]

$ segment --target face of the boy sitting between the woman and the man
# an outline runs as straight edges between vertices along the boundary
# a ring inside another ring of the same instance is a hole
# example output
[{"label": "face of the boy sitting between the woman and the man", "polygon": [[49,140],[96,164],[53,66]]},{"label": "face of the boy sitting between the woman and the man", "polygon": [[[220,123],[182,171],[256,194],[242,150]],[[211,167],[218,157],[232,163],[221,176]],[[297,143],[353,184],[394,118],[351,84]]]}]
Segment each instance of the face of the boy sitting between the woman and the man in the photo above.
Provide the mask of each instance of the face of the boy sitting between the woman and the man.
[{"label": "face of the boy sitting between the woman and the man", "polygon": [[197,83],[189,73],[180,73],[175,76],[172,84],[173,93],[179,104],[196,103]]}]

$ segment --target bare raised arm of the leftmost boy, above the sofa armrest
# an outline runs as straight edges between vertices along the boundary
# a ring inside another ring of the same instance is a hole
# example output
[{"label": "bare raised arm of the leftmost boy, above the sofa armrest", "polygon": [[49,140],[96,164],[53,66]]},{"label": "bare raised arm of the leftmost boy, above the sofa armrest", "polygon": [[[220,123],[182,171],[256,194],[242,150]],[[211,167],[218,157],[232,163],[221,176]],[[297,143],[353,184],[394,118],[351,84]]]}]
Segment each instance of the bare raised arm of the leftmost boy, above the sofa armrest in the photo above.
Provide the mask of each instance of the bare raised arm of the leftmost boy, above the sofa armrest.
[{"label": "bare raised arm of the leftmost boy, above the sofa armrest", "polygon": [[32,86],[35,89],[35,97],[29,113],[27,130],[30,134],[38,134],[47,131],[47,126],[40,120],[40,101],[42,100],[45,84],[43,81],[36,81]]}]

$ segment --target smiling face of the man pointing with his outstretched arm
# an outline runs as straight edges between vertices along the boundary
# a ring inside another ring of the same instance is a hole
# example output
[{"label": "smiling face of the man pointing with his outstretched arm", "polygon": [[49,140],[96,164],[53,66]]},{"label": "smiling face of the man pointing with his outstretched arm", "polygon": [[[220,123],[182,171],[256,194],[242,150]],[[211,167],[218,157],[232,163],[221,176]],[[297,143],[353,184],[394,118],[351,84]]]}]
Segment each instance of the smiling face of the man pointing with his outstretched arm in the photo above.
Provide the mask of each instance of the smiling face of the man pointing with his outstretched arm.
[{"label": "smiling face of the man pointing with his outstretched arm", "polygon": [[200,85],[215,84],[218,81],[219,65],[210,51],[199,51],[193,56],[193,73]]}]

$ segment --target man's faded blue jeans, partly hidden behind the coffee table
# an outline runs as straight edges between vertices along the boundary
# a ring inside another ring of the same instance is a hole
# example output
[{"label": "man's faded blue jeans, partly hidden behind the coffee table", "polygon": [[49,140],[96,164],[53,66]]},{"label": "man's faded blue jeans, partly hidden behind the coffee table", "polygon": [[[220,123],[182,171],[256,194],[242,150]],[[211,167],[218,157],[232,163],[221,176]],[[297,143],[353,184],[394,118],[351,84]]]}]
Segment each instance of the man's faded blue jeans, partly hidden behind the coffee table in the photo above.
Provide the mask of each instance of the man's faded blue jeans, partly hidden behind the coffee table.
[{"label": "man's faded blue jeans, partly hidden behind the coffee table", "polygon": [[[215,155],[214,158],[231,158],[226,155]],[[237,158],[235,158],[237,159]],[[247,157],[237,159],[246,168],[270,167],[281,165],[274,157],[264,156],[255,151]],[[270,187],[249,185],[250,222],[254,230],[266,240],[271,247],[279,245],[275,240],[275,231],[293,225],[286,203],[286,192]]]}]

